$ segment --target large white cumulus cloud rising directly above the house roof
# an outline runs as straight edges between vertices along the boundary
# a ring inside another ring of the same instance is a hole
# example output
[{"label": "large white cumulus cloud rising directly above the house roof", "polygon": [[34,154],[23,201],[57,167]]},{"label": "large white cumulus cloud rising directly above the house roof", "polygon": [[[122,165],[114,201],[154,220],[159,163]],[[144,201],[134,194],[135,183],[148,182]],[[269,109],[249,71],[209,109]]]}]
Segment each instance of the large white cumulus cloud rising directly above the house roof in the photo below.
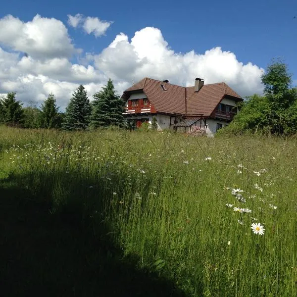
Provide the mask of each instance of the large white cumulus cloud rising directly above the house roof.
[{"label": "large white cumulus cloud rising directly above the house roof", "polygon": [[144,28],[131,42],[121,33],[99,55],[95,65],[115,80],[138,81],[143,77],[168,79],[179,85],[194,85],[196,77],[206,84],[226,82],[242,96],[261,93],[263,69],[243,64],[236,55],[220,47],[196,53],[179,53],[170,49],[159,29]]}]

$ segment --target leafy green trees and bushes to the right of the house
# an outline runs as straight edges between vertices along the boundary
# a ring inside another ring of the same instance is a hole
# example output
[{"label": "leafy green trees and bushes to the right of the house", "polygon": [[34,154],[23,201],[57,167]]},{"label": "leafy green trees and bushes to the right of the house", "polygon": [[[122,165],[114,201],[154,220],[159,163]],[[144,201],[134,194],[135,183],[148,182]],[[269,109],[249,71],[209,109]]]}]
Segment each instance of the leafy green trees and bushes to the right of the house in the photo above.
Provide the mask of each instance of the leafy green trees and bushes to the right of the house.
[{"label": "leafy green trees and bushes to the right of the house", "polygon": [[240,112],[220,133],[263,135],[297,134],[297,88],[282,60],[268,65],[261,77],[263,95],[247,97],[239,103]]}]

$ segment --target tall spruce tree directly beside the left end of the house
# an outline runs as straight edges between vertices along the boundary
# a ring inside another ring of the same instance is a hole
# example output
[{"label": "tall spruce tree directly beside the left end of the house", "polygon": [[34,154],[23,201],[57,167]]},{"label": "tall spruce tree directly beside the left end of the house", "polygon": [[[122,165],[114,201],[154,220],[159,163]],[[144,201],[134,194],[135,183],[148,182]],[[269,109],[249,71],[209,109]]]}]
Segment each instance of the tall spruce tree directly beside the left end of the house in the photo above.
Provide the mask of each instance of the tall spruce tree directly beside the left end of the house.
[{"label": "tall spruce tree directly beside the left end of the house", "polygon": [[94,95],[91,126],[94,128],[115,125],[124,126],[124,101],[115,94],[112,80]]}]

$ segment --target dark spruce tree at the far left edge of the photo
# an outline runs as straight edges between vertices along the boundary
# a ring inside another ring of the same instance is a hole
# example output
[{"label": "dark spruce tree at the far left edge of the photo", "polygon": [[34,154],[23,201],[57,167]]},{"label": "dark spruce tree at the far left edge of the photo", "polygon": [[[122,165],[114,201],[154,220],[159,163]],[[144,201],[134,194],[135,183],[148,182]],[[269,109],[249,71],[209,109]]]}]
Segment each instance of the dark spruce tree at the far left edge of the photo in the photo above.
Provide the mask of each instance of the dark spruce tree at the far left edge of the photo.
[{"label": "dark spruce tree at the far left edge of the photo", "polygon": [[3,99],[3,122],[8,126],[22,126],[24,121],[24,112],[22,103],[16,101],[14,92],[8,93]]}]

